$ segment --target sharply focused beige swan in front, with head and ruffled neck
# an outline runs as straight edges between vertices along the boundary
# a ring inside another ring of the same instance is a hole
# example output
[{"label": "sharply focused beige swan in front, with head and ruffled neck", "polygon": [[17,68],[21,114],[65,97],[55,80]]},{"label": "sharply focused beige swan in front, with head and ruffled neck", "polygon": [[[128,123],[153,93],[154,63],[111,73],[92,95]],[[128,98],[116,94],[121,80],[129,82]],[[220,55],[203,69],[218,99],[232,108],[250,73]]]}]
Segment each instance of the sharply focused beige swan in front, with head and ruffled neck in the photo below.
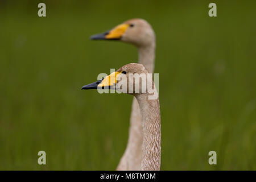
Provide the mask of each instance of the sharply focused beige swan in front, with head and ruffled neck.
[{"label": "sharply focused beige swan in front, with head and ruffled neck", "polygon": [[126,64],[123,67],[119,68],[116,72],[113,72],[109,76],[102,78],[102,80],[98,80],[96,82],[93,82],[92,84],[82,86],[82,89],[87,90],[110,88],[120,91],[121,86],[119,86],[118,84],[121,83],[121,78],[122,80],[127,80],[127,84],[122,85],[122,92],[123,90],[125,90],[124,93],[132,94],[136,98],[142,114],[142,157],[140,169],[143,171],[160,170],[161,126],[158,93],[152,79],[149,81],[147,80],[147,84],[148,82],[151,82],[154,92],[157,93],[157,97],[154,100],[148,99],[148,96],[150,96],[148,89],[146,89],[146,92],[142,92],[142,88],[139,87],[139,92],[128,92],[130,91],[129,86],[133,86],[133,90],[135,90],[134,88],[136,88],[136,86],[140,86],[140,82],[134,81],[133,78],[129,80],[130,74],[134,75],[135,73],[138,73],[139,75],[147,75],[148,71],[142,64]]}]

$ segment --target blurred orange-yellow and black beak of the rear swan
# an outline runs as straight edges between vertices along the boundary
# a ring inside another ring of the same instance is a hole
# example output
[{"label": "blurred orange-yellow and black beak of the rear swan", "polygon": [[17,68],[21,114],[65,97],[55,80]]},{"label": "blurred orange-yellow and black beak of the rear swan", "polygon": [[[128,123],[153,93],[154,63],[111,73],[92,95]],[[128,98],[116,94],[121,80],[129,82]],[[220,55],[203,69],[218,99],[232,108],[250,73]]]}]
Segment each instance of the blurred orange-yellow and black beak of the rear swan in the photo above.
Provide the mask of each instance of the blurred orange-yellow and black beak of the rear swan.
[{"label": "blurred orange-yellow and black beak of the rear swan", "polygon": [[125,24],[119,24],[117,27],[114,27],[110,31],[106,31],[102,34],[96,34],[92,35],[90,39],[92,40],[119,40],[122,38],[122,35],[125,34],[125,31],[130,25]]}]

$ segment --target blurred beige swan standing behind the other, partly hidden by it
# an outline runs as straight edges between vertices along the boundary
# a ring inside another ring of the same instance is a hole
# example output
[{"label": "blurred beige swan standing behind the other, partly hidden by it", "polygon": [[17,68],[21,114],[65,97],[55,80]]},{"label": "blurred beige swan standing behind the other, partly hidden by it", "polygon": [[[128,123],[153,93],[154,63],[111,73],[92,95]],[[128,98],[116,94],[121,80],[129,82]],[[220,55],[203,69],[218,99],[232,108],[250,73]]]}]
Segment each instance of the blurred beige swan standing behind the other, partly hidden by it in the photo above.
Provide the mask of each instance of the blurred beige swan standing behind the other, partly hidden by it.
[{"label": "blurred beige swan standing behind the other, partly hidden by it", "polygon": [[[90,37],[92,40],[121,40],[138,48],[139,63],[149,73],[154,72],[155,32],[144,19],[130,19],[102,34]],[[129,139],[117,170],[139,170],[141,168],[142,116],[137,100],[131,107]]]}]

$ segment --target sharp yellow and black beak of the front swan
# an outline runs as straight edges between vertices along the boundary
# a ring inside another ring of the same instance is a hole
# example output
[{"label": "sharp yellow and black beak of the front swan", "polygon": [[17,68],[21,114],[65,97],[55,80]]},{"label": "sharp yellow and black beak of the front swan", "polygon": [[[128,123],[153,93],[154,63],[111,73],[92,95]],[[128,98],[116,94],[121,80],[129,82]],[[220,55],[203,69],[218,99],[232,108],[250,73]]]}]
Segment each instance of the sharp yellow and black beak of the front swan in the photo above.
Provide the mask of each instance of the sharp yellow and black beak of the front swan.
[{"label": "sharp yellow and black beak of the front swan", "polygon": [[82,90],[89,90],[89,89],[98,89],[98,88],[111,88],[114,84],[117,83],[117,79],[121,72],[113,72],[109,76],[106,76],[102,80],[98,80],[88,85],[82,86]]}]

